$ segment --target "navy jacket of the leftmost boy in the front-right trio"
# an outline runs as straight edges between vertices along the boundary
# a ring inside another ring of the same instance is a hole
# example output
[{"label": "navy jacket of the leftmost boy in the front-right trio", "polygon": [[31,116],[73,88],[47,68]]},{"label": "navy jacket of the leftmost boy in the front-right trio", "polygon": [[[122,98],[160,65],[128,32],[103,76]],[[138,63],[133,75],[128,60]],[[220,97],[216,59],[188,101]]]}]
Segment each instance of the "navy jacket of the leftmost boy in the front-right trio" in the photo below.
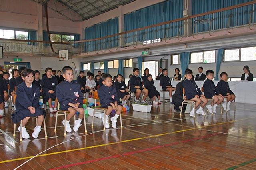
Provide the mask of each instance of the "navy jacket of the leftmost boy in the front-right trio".
[{"label": "navy jacket of the leftmost boy in the front-right trio", "polygon": [[196,95],[199,97],[202,95],[200,88],[198,88],[194,80],[185,79],[182,84],[185,88],[185,95],[187,100],[194,98]]}]

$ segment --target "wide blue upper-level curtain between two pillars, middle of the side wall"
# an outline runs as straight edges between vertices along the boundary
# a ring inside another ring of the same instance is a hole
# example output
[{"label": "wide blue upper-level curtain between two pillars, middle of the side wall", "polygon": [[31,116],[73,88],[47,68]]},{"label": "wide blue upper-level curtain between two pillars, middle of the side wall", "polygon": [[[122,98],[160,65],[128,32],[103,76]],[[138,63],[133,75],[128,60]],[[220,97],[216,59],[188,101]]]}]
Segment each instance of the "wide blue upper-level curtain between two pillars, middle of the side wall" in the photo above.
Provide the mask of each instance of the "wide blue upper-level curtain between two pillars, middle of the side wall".
[{"label": "wide blue upper-level curtain between two pillars, middle of the side wall", "polygon": [[[183,0],[168,0],[124,15],[124,30],[130,31],[161,22],[182,18]],[[178,36],[183,22],[167,24],[132,32],[126,35],[126,43]],[[166,29],[168,28],[168,29]],[[167,32],[166,32],[167,31]],[[180,32],[180,35],[182,32]]]}]

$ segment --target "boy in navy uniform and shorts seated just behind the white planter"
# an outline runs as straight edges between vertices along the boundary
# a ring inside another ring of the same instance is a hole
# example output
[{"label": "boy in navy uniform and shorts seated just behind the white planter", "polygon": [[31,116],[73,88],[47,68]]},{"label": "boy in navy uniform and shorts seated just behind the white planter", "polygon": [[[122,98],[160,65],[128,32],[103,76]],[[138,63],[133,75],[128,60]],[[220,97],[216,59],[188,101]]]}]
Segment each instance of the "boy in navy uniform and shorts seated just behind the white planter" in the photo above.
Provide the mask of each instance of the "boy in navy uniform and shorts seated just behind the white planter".
[{"label": "boy in navy uniform and shorts seated just behind the white planter", "polygon": [[148,89],[146,89],[141,82],[139,75],[139,69],[134,68],[133,69],[133,76],[130,78],[130,90],[131,92],[136,92],[136,98],[135,100],[138,100],[140,98],[140,94],[144,92],[144,96],[142,99],[142,102],[145,102],[147,96],[148,96]]}]

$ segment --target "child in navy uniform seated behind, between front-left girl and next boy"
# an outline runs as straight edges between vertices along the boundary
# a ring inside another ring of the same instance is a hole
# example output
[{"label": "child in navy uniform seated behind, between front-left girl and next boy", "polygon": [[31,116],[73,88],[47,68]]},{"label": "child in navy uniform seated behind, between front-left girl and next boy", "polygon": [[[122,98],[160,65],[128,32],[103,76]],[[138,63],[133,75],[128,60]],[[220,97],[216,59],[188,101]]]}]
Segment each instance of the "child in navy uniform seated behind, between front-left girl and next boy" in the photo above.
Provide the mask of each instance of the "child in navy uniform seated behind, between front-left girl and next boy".
[{"label": "child in navy uniform seated behind, between front-left girl and next boy", "polygon": [[[43,90],[43,102],[46,104],[48,102],[51,113],[57,112],[57,101],[56,99],[56,86],[58,85],[58,80],[56,77],[52,76],[52,68],[47,67],[45,69],[46,76],[42,77],[41,87]],[[55,100],[54,109],[52,109],[52,99]]]}]

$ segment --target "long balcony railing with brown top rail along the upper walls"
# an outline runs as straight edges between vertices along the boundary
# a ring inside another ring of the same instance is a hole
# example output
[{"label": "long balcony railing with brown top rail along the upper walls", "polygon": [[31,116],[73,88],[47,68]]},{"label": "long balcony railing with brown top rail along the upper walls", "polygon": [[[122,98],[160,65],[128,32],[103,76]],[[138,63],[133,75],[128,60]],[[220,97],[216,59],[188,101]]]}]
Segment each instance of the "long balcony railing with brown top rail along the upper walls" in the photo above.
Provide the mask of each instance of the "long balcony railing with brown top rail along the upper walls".
[{"label": "long balcony railing with brown top rail along the upper walls", "polygon": [[[196,38],[206,33],[212,36],[223,30],[232,33],[235,28],[247,27],[255,32],[252,29],[255,24],[256,0],[92,40],[61,43],[0,39],[0,46],[4,47],[6,53],[50,55],[54,54],[53,51],[58,53],[58,50],[68,49],[72,54],[82,53],[86,56],[119,51],[121,48],[150,48],[161,45],[161,42],[169,43],[174,39],[182,41],[182,38]],[[48,43],[52,44],[53,50]]]}]

